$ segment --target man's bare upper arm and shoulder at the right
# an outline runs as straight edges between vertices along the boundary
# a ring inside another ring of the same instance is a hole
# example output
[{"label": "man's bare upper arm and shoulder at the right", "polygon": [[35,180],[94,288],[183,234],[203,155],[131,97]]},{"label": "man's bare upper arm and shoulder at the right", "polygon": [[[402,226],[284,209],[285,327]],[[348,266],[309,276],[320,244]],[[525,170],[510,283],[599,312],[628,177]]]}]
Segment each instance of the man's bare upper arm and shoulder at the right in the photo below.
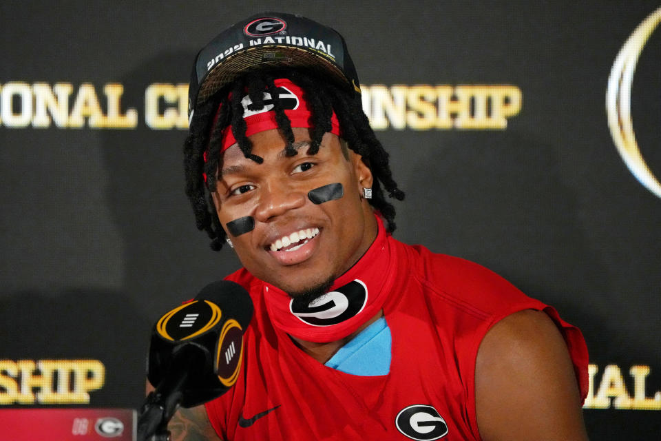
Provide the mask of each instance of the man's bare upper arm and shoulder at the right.
[{"label": "man's bare upper arm and shoulder at the right", "polygon": [[580,393],[565,340],[541,311],[520,311],[487,332],[475,371],[485,441],[585,441]]}]

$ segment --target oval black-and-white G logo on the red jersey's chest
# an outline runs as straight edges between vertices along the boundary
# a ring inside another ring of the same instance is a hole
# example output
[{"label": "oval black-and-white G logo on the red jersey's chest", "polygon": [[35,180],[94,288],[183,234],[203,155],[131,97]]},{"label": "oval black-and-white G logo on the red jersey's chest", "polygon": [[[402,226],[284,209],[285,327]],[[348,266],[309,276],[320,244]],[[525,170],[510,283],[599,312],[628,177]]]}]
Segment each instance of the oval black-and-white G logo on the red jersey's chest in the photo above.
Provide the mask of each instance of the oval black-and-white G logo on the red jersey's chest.
[{"label": "oval black-and-white G logo on the red jersey's chest", "polygon": [[439,412],[428,404],[413,404],[401,409],[395,418],[395,425],[412,440],[438,440],[448,434],[448,425]]}]

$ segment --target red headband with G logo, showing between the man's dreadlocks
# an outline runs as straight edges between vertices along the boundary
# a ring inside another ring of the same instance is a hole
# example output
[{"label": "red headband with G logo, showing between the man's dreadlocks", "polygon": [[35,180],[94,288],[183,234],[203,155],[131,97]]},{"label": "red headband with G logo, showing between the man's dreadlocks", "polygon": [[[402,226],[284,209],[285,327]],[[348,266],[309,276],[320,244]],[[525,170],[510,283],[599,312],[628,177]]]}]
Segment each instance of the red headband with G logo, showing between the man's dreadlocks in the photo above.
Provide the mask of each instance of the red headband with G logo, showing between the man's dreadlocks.
[{"label": "red headband with G logo, showing between the man's dreadlocks", "polygon": [[[313,127],[312,112],[308,103],[303,99],[303,90],[292,83],[288,79],[277,79],[273,81],[275,88],[277,88],[278,101],[284,108],[284,114],[291,121],[291,127]],[[231,98],[231,94],[230,94]],[[244,96],[241,100],[243,106],[243,119],[246,121],[246,136],[251,136],[255,133],[264,132],[264,130],[277,129],[277,121],[275,121],[275,112],[273,111],[273,101],[269,92],[264,92],[264,108],[261,110],[249,110],[248,106],[252,103],[249,96]],[[218,114],[220,114],[220,106],[213,118],[213,125],[218,121]],[[339,121],[335,112],[330,117],[330,133],[339,136]],[[220,136],[220,152],[224,152],[228,147],[236,143],[232,133],[231,125],[225,127]]]}]

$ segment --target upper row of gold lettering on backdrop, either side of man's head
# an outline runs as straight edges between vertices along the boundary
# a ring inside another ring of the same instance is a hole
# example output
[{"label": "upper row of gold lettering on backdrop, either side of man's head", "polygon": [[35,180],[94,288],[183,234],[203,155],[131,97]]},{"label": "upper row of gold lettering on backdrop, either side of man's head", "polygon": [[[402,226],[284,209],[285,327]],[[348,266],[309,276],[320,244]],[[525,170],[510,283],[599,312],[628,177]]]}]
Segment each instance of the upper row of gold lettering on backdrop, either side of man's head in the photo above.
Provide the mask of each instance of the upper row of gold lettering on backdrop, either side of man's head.
[{"label": "upper row of gold lettering on backdrop, either side of man's head", "polygon": [[[138,111],[123,110],[124,85],[10,81],[0,84],[0,125],[21,129],[136,129]],[[516,85],[361,85],[363,109],[374,130],[505,130],[521,112]],[[145,125],[188,129],[188,84],[151,83]]]}]

